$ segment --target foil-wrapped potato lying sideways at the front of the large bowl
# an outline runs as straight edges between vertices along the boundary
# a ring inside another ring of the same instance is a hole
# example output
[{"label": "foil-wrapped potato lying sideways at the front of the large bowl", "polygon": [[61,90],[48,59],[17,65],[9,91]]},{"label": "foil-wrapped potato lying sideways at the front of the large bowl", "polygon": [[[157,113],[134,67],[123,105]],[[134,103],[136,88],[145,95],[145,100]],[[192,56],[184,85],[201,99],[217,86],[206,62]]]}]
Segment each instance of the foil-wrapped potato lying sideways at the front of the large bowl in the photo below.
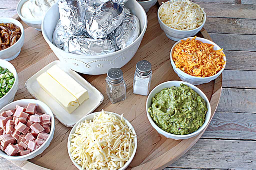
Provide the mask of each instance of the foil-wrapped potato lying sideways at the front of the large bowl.
[{"label": "foil-wrapped potato lying sideways at the front of the large bowl", "polygon": [[63,50],[80,55],[94,56],[113,53],[111,40],[92,39],[84,35],[70,37],[63,45]]}]

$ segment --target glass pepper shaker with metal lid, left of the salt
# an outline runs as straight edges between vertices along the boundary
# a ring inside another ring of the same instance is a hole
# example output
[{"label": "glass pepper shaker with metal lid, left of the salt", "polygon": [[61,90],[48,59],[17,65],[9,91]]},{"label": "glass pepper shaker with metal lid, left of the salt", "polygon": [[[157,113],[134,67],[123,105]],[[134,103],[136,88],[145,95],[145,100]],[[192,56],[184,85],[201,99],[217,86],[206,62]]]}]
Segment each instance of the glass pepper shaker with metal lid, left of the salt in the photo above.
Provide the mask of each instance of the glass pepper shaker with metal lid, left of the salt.
[{"label": "glass pepper shaker with metal lid, left of the salt", "polygon": [[111,103],[117,103],[126,99],[126,84],[121,69],[109,69],[106,77],[106,93]]}]

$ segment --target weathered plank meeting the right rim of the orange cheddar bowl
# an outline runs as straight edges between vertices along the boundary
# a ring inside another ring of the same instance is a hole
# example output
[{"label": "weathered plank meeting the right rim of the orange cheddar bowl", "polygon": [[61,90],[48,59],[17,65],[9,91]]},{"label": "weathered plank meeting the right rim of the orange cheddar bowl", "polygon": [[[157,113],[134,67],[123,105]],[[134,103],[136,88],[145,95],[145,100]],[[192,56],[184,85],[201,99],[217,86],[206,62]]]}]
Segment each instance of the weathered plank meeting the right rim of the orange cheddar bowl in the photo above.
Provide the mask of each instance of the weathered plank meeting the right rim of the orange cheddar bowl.
[{"label": "weathered plank meeting the right rim of the orange cheddar bowl", "polygon": [[225,69],[256,71],[256,52],[224,50],[224,53],[227,59]]}]

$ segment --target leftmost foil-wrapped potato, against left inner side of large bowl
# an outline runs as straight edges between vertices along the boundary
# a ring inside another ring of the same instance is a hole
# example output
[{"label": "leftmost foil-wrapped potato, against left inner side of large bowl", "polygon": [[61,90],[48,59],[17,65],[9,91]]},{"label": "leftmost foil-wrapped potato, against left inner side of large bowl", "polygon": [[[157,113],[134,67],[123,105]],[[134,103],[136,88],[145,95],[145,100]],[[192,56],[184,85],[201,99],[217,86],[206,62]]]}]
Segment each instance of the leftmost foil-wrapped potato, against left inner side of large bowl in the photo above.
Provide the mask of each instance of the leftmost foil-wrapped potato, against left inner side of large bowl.
[{"label": "leftmost foil-wrapped potato, against left inner side of large bowl", "polygon": [[52,43],[58,48],[62,49],[64,43],[68,40],[71,35],[69,31],[63,29],[60,20],[58,20],[55,30],[52,34]]}]

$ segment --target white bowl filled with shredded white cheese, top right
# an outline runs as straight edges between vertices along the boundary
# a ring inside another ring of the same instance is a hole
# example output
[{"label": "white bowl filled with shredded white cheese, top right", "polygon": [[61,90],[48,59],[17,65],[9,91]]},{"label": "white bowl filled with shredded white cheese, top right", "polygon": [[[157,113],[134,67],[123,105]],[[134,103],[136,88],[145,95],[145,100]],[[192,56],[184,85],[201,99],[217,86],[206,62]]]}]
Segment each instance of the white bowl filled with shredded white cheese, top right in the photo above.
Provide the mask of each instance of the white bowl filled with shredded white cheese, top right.
[{"label": "white bowl filled with shredded white cheese, top right", "polygon": [[174,41],[196,35],[204,26],[206,13],[189,0],[172,0],[163,3],[157,18],[166,36]]}]

